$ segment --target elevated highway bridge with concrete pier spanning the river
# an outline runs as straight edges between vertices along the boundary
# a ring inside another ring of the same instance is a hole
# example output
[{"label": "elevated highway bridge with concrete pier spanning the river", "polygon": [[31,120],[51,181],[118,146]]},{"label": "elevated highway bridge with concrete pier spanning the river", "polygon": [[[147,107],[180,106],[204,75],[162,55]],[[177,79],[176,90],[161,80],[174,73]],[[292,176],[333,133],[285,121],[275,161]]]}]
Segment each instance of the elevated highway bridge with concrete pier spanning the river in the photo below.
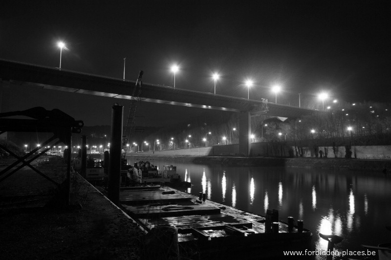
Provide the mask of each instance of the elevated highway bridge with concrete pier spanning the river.
[{"label": "elevated highway bridge with concrete pier spanning the river", "polygon": [[[0,60],[0,84],[1,89],[9,88],[12,85],[27,85],[43,89],[54,89],[130,100],[135,81],[103,77],[10,60]],[[2,99],[6,98],[4,95],[1,96]],[[244,156],[248,156],[249,154],[249,137],[251,133],[250,117],[252,115],[266,113],[270,116],[297,118],[314,112],[312,109],[264,102],[262,100],[248,100],[244,98],[215,95],[213,93],[161,86],[145,82],[143,82],[140,101],[240,113],[239,151]]]}]

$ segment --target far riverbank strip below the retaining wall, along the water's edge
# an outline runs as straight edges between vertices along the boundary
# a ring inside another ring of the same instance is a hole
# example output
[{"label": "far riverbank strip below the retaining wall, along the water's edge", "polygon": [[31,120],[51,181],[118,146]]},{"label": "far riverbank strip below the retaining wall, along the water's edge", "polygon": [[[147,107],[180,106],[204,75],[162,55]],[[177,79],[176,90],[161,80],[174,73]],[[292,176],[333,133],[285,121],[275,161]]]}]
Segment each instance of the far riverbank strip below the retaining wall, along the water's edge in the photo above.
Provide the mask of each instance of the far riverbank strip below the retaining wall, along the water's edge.
[{"label": "far riverbank strip below the retaining wall, along the water's edge", "polygon": [[390,173],[391,160],[360,160],[339,158],[263,158],[263,157],[210,157],[131,155],[130,163],[137,160],[191,161],[193,163],[221,163],[225,165],[283,166],[314,169],[373,171]]}]

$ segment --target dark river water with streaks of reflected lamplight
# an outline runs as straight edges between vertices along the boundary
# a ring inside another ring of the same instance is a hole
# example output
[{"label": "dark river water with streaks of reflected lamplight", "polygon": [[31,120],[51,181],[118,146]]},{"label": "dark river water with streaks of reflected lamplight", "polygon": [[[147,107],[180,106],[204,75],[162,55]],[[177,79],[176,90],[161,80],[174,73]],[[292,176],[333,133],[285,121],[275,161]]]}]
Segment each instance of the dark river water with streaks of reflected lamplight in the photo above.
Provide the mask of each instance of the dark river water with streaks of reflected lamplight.
[{"label": "dark river water with streaks of reflected lamplight", "polygon": [[[128,160],[132,161],[132,160]],[[361,244],[391,241],[391,174],[307,169],[296,167],[244,167],[154,160],[173,164],[182,180],[191,181],[185,191],[241,210],[265,215],[278,209],[281,220],[304,220],[312,231],[313,245],[326,250],[319,233],[344,238],[342,251],[362,251]],[[352,257],[360,259],[360,257]]]}]

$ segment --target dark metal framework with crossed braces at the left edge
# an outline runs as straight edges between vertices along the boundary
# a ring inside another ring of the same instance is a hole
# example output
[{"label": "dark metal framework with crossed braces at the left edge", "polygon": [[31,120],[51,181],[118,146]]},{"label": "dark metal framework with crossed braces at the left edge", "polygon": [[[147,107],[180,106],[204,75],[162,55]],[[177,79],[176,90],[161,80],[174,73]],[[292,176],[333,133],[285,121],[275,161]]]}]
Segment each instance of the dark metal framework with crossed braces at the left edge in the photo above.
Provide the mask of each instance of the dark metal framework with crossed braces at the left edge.
[{"label": "dark metal framework with crossed braces at the left edge", "polygon": [[[12,116],[25,116],[31,119],[15,119],[6,118]],[[0,171],[0,182],[10,177],[12,174],[22,169],[24,166],[31,168],[37,174],[41,175],[48,181],[55,184],[61,191],[66,193],[66,203],[70,203],[70,162],[71,162],[71,137],[72,133],[81,133],[81,128],[84,126],[84,122],[75,120],[71,116],[65,114],[59,109],[46,110],[43,107],[34,107],[23,111],[13,111],[0,113],[0,135],[5,132],[41,132],[52,133],[53,136],[45,140],[42,143],[42,147],[46,145],[57,145],[64,143],[69,148],[67,149],[64,157],[66,158],[67,170],[66,179],[64,183],[57,183],[36,169],[31,162],[45,154],[50,148],[37,147],[25,155],[18,156],[5,145],[0,143],[0,148],[7,151],[10,155],[17,159],[2,171]],[[40,152],[39,152],[40,150]],[[22,163],[18,167],[19,163]]]}]

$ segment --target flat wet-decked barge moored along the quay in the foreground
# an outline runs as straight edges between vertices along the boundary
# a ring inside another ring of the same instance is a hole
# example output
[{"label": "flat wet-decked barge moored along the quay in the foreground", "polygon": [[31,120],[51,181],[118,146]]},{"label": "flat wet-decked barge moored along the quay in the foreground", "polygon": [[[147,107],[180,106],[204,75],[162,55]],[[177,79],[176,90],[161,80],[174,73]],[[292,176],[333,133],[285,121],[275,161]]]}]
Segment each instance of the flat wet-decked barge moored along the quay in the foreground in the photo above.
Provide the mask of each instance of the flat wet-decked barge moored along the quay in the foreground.
[{"label": "flat wet-decked barge moored along the quay in the foreground", "polygon": [[154,242],[152,237],[148,240],[152,246],[146,259],[168,250],[192,260],[295,259],[283,251],[311,249],[311,232],[292,221],[276,220],[275,210],[262,217],[205,200],[201,194],[196,197],[157,185],[121,188],[120,203],[152,237],[163,234]]}]

